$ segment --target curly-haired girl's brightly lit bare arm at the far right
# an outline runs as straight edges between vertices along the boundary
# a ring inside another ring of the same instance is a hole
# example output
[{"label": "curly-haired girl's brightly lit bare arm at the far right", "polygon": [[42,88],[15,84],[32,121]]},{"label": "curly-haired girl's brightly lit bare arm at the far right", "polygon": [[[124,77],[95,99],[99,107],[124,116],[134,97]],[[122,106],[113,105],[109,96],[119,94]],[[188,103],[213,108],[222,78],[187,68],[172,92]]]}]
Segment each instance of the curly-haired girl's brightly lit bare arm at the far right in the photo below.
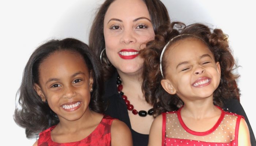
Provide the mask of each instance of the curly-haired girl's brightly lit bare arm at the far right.
[{"label": "curly-haired girl's brightly lit bare arm at the far right", "polygon": [[251,146],[249,129],[243,118],[240,120],[238,130],[238,146]]}]

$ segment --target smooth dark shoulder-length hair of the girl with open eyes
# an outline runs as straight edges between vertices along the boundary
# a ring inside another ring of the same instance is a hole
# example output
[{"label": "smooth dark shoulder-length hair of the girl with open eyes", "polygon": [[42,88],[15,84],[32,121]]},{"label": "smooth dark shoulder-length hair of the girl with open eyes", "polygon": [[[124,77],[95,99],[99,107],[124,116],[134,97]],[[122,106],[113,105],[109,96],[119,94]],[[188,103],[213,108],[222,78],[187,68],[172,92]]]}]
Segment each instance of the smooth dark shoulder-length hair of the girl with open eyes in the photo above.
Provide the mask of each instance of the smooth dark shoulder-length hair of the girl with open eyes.
[{"label": "smooth dark shoulder-length hair of the girl with open eyes", "polygon": [[101,99],[103,78],[101,77],[100,64],[91,49],[85,43],[73,38],[51,40],[39,46],[29,58],[17,93],[19,104],[16,105],[14,120],[19,126],[26,129],[27,138],[38,137],[39,132],[59,123],[59,118],[50,109],[47,101],[42,101],[37,95],[34,84],[39,84],[40,64],[49,55],[63,50],[78,53],[83,57],[89,72],[93,74],[94,80],[89,107],[99,113],[103,113],[105,110]]}]

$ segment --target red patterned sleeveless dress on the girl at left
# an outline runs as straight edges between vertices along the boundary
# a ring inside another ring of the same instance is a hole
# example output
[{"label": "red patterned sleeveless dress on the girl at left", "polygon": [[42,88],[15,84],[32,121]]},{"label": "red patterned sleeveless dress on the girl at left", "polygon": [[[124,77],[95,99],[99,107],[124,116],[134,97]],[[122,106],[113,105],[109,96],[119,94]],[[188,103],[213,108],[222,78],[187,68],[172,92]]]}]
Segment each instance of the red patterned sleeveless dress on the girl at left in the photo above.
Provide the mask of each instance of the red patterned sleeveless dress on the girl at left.
[{"label": "red patterned sleeveless dress on the girl at left", "polygon": [[81,141],[69,143],[53,142],[50,132],[55,126],[52,126],[39,134],[38,146],[110,146],[110,128],[113,120],[114,118],[104,115],[101,122],[88,137]]}]

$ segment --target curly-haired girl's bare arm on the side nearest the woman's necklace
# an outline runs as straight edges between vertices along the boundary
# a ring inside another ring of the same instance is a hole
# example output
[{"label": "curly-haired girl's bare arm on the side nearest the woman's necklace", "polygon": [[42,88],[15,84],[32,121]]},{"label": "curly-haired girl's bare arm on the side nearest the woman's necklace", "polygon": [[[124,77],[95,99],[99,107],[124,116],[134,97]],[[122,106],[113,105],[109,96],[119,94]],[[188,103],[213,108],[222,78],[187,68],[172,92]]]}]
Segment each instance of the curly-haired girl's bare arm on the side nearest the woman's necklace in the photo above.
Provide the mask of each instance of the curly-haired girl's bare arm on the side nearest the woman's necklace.
[{"label": "curly-haired girl's bare arm on the side nearest the woman's necklace", "polygon": [[162,145],[162,121],[162,115],[159,115],[154,119],[149,132],[148,146]]}]

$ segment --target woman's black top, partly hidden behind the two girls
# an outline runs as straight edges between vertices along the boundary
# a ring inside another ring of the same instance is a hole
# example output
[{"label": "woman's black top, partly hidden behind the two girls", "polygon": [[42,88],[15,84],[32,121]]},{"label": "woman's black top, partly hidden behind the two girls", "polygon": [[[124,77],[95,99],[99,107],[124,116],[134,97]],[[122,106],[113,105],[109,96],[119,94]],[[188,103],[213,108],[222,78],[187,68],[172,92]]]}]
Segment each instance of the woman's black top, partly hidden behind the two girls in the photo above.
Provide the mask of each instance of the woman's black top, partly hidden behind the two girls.
[{"label": "woman's black top, partly hidden behind the two girls", "polygon": [[[104,102],[108,105],[105,114],[113,118],[117,118],[123,121],[125,124],[127,124],[127,126],[130,128],[132,132],[133,146],[147,146],[148,134],[140,134],[132,130],[127,111],[127,106],[123,98],[117,91],[117,75],[117,72],[115,72],[113,76],[107,82],[105,82],[105,95],[103,96],[103,99]],[[223,109],[244,116],[245,121],[249,127],[251,144],[252,146],[256,146],[256,141],[252,131],[252,127],[240,102],[237,99],[229,99],[225,102]]]}]

